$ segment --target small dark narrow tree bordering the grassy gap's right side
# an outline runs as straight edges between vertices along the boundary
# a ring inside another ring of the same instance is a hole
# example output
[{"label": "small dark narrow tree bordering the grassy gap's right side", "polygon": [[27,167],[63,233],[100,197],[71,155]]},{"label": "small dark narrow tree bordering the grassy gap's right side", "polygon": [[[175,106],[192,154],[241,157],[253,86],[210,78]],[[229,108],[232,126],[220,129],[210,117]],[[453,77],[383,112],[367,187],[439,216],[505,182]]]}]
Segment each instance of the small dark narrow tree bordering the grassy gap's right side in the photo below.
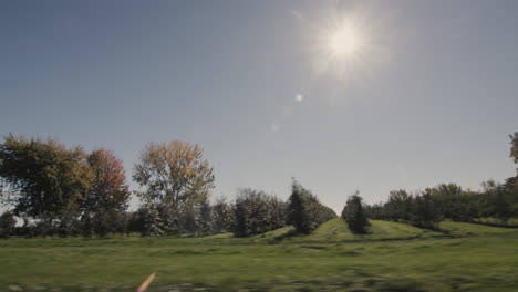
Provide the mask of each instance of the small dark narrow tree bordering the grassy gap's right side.
[{"label": "small dark narrow tree bordering the grassy gap's right side", "polygon": [[345,220],[351,232],[356,234],[369,233],[369,226],[371,223],[365,217],[362,197],[359,196],[358,190],[354,195],[349,197],[342,211],[342,219]]}]

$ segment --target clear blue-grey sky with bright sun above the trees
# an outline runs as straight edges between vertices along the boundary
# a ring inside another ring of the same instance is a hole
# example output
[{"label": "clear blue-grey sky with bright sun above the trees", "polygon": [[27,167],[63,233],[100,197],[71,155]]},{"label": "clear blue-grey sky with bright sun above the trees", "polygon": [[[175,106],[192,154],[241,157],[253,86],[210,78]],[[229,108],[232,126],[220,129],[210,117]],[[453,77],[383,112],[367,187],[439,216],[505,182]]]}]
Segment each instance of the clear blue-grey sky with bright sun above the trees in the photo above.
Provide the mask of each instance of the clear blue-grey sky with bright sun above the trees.
[{"label": "clear blue-grey sky with bright sun above the trees", "polygon": [[[198,144],[228,199],[288,198],[292,177],[336,211],[355,190],[372,204],[479,189],[515,175],[517,12],[512,0],[7,0],[0,135],[107,148],[130,182],[147,143]],[[345,43],[330,43],[344,25]]]}]

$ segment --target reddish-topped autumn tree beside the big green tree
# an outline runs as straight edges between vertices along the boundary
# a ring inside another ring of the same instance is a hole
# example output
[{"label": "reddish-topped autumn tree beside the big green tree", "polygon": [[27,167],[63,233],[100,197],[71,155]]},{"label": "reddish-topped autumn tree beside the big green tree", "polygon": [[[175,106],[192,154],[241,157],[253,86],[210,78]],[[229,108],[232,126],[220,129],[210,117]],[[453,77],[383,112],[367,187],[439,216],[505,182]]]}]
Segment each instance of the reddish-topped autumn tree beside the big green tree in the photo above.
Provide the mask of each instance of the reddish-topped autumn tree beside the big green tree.
[{"label": "reddish-topped autumn tree beside the big green tree", "polygon": [[105,236],[117,229],[130,200],[122,160],[106,149],[96,149],[87,157],[92,186],[82,199],[83,233]]}]

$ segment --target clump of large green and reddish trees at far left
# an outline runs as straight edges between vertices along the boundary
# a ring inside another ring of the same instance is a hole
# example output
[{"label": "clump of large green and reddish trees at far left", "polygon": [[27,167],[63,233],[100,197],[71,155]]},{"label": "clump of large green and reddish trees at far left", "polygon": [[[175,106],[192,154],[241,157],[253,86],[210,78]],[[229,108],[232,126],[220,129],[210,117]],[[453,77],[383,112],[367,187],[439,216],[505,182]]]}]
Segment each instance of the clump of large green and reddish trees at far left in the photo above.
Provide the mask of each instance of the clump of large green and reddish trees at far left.
[{"label": "clump of large green and reddish trees at far left", "polygon": [[87,154],[13,135],[0,145],[0,199],[12,207],[1,217],[3,236],[13,216],[27,234],[105,234],[121,222],[130,195],[122,161],[106,149]]}]

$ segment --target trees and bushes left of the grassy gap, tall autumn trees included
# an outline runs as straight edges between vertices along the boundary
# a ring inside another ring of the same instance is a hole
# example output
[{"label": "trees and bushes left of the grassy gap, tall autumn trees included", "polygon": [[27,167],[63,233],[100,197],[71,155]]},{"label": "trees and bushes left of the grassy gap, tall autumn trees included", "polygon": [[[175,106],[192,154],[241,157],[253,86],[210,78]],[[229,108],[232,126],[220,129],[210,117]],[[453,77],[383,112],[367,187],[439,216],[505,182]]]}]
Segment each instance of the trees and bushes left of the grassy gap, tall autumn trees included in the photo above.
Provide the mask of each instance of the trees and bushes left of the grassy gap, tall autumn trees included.
[{"label": "trees and bushes left of the grassy gap, tall autumn trees included", "polygon": [[[0,145],[0,237],[205,236],[247,237],[287,225],[310,232],[335,217],[293,180],[282,201],[261,190],[239,189],[235,201],[210,204],[214,170],[203,149],[183,142],[149,143],[134,166],[141,206],[127,211],[131,191],[122,161],[107,149],[86,153],[55,139],[8,135]],[[15,217],[23,223],[15,226]]]}]

